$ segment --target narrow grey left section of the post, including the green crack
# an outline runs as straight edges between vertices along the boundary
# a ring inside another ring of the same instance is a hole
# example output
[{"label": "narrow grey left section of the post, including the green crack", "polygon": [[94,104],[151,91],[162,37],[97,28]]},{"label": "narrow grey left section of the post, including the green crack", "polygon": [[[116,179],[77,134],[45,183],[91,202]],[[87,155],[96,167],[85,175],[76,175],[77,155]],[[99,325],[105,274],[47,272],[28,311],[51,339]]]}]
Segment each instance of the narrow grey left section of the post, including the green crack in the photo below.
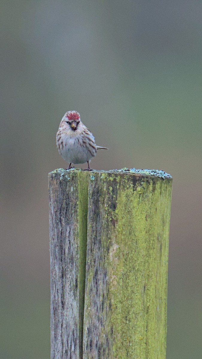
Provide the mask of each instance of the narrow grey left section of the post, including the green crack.
[{"label": "narrow grey left section of the post, including the green crack", "polygon": [[88,173],[49,174],[51,359],[81,359]]}]

